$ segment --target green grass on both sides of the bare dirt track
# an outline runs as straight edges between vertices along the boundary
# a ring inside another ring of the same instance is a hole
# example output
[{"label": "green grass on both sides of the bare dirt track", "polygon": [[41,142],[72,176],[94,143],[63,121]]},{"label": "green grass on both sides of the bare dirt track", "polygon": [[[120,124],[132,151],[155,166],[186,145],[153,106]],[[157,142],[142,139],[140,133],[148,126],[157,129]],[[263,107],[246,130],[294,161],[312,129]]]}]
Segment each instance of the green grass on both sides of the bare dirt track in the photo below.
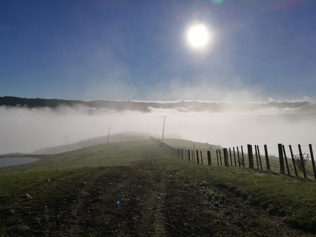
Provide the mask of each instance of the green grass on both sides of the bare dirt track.
[{"label": "green grass on both sides of the bare dirt track", "polygon": [[[166,141],[183,147],[183,140]],[[195,144],[194,148],[198,150],[205,146],[202,154],[206,164],[209,145],[187,141],[186,144],[187,148],[191,145],[193,148]],[[106,170],[106,167],[99,166],[130,165],[138,160],[150,159],[188,182],[196,185],[207,182],[229,190],[237,197],[267,209],[271,214],[284,216],[285,221],[293,227],[316,232],[316,182],[281,175],[277,169],[276,172],[262,172],[218,166],[214,151],[213,165],[202,166],[171,157],[152,140],[130,141],[95,145],[52,155],[26,165],[0,168],[0,213],[3,213],[0,217],[7,218],[10,209],[22,208],[29,203],[35,205],[37,200],[45,199],[52,193],[71,192],[73,187],[80,186],[83,181],[89,181]],[[273,164],[274,168],[276,166]],[[31,195],[32,199],[20,202],[20,196],[25,193]],[[19,223],[19,219],[13,216],[6,221],[11,221],[13,226]]]}]

